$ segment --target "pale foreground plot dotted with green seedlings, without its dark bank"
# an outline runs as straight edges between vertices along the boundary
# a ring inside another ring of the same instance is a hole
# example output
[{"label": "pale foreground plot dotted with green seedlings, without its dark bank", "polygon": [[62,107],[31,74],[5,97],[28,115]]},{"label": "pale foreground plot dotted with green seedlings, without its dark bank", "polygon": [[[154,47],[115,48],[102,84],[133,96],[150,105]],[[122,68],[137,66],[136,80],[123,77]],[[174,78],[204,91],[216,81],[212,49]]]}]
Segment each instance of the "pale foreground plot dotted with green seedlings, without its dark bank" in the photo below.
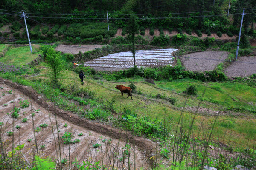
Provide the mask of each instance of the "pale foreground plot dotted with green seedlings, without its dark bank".
[{"label": "pale foreground plot dotted with green seedlings, without its dark bank", "polygon": [[[39,155],[41,157],[49,156],[58,163],[57,157],[60,156],[59,153],[61,152],[61,160],[67,159],[67,163],[63,166],[68,166],[69,160],[73,162],[77,159],[79,162],[101,161],[101,165],[106,167],[112,164],[112,167],[114,165],[117,169],[127,169],[128,155],[126,153],[129,152],[131,167],[135,164],[136,167],[147,167],[144,153],[138,150],[136,146],[134,150],[133,144],[88,130],[83,126],[79,126],[79,123],[71,123],[72,121],[64,119],[62,116],[57,116],[57,119],[55,119],[55,115],[49,111],[49,108],[45,109],[35,100],[30,100],[30,97],[27,96],[30,94],[24,94],[3,82],[0,83],[0,87],[2,87],[0,88],[0,94],[2,94],[0,97],[0,122],[2,123],[0,125],[0,133],[3,136],[1,140],[7,151],[12,149],[12,141],[15,147],[17,144],[24,144],[22,149],[24,153],[23,159],[28,162],[33,161],[33,155],[37,152],[32,123],[34,121]],[[29,104],[27,103],[26,107],[22,107],[24,102],[29,102]],[[17,111],[17,118],[12,117],[14,110]],[[34,114],[33,117],[32,113]],[[67,117],[74,119],[75,116],[71,113]],[[58,130],[56,125],[58,125]],[[17,128],[17,126],[20,126],[20,128]],[[98,130],[102,129],[102,127],[95,126],[95,130],[97,128]],[[72,133],[73,138],[71,141],[76,142],[70,145],[64,144],[65,139],[63,136],[65,136],[65,133]],[[100,144],[101,146],[95,148],[95,144]],[[58,147],[59,145],[60,147]]]}]

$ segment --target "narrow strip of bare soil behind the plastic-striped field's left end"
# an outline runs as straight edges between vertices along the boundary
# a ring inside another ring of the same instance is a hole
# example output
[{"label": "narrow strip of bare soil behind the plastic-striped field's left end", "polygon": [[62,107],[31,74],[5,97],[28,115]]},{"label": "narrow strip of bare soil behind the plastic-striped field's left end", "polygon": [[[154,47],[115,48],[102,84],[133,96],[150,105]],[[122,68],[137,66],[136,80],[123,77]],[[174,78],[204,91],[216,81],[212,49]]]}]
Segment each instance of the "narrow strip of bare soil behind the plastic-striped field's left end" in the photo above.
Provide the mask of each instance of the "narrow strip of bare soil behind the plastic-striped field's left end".
[{"label": "narrow strip of bare soil behind the plastic-striped field's left end", "polygon": [[102,48],[103,46],[104,45],[58,45],[55,50],[61,51],[63,53],[78,54],[79,51],[84,53],[96,48]]}]

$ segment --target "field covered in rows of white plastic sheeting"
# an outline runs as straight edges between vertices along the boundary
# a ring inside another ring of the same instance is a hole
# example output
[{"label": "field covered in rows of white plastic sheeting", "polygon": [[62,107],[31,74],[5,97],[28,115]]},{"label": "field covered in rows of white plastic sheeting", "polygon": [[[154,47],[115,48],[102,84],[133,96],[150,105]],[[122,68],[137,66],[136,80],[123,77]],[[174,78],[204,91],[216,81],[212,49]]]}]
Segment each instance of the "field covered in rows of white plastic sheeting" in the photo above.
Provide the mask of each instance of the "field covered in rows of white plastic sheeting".
[{"label": "field covered in rows of white plastic sheeting", "polygon": [[[137,67],[159,67],[172,65],[175,57],[172,55],[177,49],[137,50],[135,51],[135,64]],[[98,71],[118,71],[133,67],[132,52],[120,52],[93,59],[84,63]]]}]

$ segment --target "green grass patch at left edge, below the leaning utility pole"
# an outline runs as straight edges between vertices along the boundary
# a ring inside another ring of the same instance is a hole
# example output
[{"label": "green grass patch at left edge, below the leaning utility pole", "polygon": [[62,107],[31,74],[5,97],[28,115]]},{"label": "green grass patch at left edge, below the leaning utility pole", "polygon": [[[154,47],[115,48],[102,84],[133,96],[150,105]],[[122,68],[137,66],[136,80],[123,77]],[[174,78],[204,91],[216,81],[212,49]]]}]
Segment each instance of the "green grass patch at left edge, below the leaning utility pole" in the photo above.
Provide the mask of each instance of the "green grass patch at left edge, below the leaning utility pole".
[{"label": "green grass patch at left edge, below the leaning utility pole", "polygon": [[9,65],[25,65],[38,57],[38,52],[32,47],[33,53],[30,52],[29,46],[26,47],[11,47],[6,52],[4,57],[0,58],[0,62]]}]

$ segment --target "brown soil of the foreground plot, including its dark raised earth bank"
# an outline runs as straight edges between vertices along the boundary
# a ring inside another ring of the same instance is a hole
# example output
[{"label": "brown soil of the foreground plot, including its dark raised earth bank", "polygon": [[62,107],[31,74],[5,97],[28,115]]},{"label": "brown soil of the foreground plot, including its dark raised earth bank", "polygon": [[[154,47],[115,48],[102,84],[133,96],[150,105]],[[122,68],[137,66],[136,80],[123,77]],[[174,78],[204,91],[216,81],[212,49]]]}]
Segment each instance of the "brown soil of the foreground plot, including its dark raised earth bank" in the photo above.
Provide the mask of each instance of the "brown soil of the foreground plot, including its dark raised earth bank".
[{"label": "brown soil of the foreground plot, including its dark raised earth bank", "polygon": [[[55,123],[54,111],[57,115],[57,125],[58,130],[60,131],[60,136],[63,136],[65,132],[72,132],[74,135],[73,139],[80,139],[79,143],[70,144],[70,159],[74,161],[75,158],[81,161],[99,161],[103,160],[103,164],[109,165],[110,161],[113,164],[113,154],[119,153],[119,158],[122,157],[123,147],[125,146],[125,142],[131,142],[129,145],[131,146],[131,156],[130,162],[133,163],[131,167],[134,166],[134,153],[135,153],[135,163],[136,167],[148,167],[147,158],[153,152],[153,143],[148,139],[143,139],[142,137],[134,137],[129,132],[117,130],[108,125],[102,125],[97,122],[91,122],[86,119],[81,119],[76,114],[71,112],[63,111],[59,108],[55,108],[51,103],[45,102],[42,96],[38,95],[33,89],[23,86],[17,85],[8,80],[4,80],[0,78],[0,86],[4,87],[0,89],[0,93],[6,93],[8,90],[12,90],[13,94],[7,94],[0,98],[0,122],[3,122],[1,126],[3,141],[5,142],[5,146],[7,150],[11,149],[11,141],[12,136],[7,136],[7,131],[12,131],[12,117],[7,115],[6,113],[10,113],[14,105],[19,107],[20,104],[19,98],[31,99],[32,105],[29,108],[21,108],[19,111],[19,118],[14,119],[14,143],[15,144],[25,144],[23,148],[23,153],[26,159],[30,160],[33,154],[36,152],[35,149],[35,140],[33,136],[32,129],[32,117],[31,117],[31,107],[32,112],[35,113],[33,117],[35,128],[40,124],[47,123],[49,126],[43,128],[41,127],[40,132],[35,132],[38,150],[40,152],[40,156],[50,156],[56,158],[57,152],[55,148],[54,138],[57,140],[57,129]],[[14,101],[14,103],[10,103],[10,101]],[[8,104],[7,106],[3,106],[3,104]],[[35,110],[40,109],[38,113]],[[50,116],[49,116],[50,114]],[[21,119],[28,118],[28,121],[23,123]],[[51,127],[51,122],[53,125],[53,129]],[[67,123],[68,127],[64,127],[63,125]],[[16,129],[16,125],[21,125],[20,132]],[[52,130],[54,135],[52,134]],[[20,133],[20,134],[19,134]],[[83,133],[83,136],[78,136],[79,133]],[[32,142],[27,142],[27,139],[32,139]],[[107,141],[104,143],[102,139],[111,139],[112,142],[109,144]],[[60,140],[61,146],[61,155],[62,159],[69,159],[69,145],[63,144],[63,139]],[[101,147],[97,149],[93,148],[93,144],[102,144]],[[135,147],[133,147],[135,144]],[[45,145],[45,149],[40,149],[39,146]],[[108,148],[108,149],[107,149]],[[135,149],[135,150],[134,150]],[[140,149],[140,150],[139,150]],[[58,150],[58,149],[57,149]],[[112,156],[112,159],[110,158]],[[103,159],[102,159],[103,157]],[[117,161],[117,160],[116,160]],[[125,169],[127,169],[128,160],[125,159]],[[115,164],[118,169],[122,168],[122,162],[118,161]]]}]

